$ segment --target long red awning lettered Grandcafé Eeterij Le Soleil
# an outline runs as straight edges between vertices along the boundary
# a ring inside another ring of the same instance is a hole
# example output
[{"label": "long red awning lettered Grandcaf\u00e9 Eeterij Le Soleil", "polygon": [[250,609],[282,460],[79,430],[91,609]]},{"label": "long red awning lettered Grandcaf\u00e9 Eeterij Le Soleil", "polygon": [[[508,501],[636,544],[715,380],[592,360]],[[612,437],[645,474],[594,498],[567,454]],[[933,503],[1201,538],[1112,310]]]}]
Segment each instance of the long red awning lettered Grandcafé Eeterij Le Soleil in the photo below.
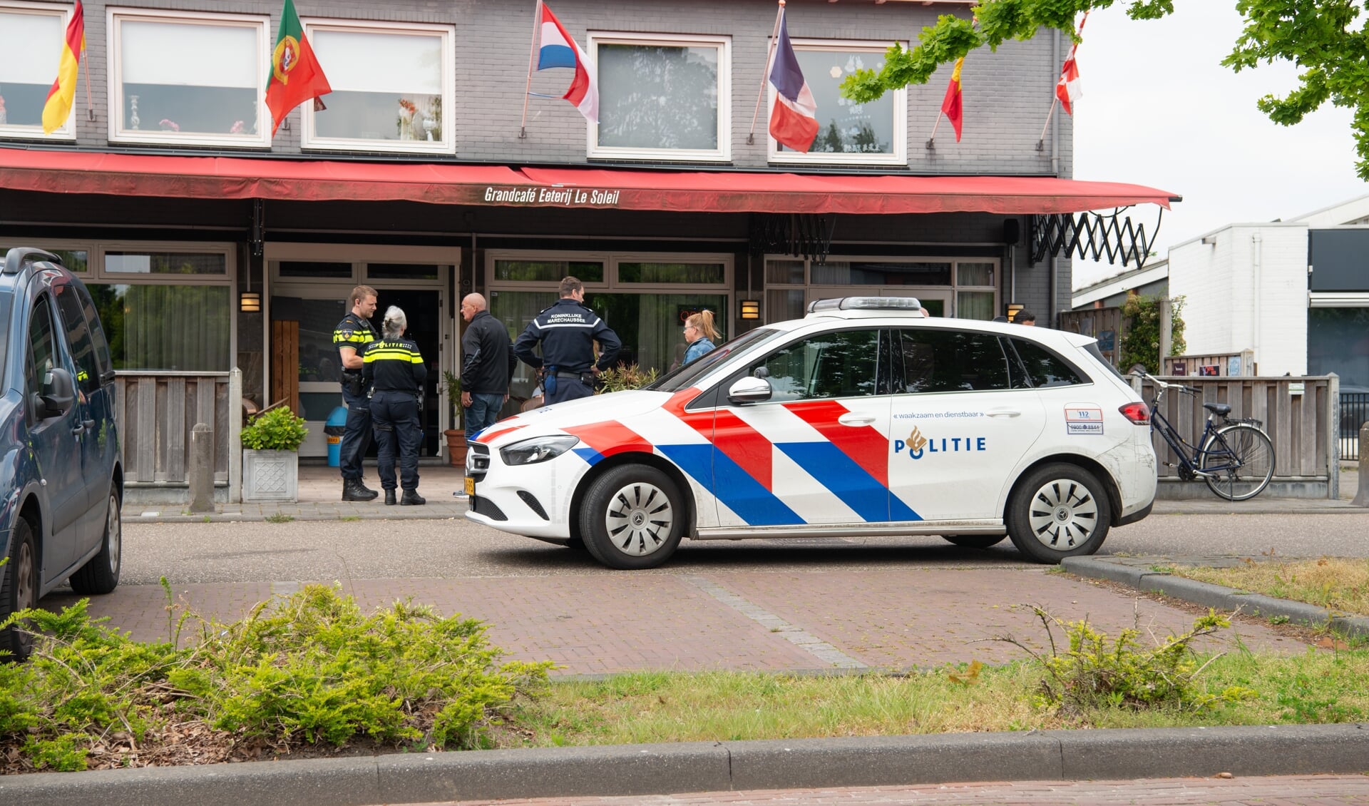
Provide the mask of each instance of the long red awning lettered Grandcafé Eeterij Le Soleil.
[{"label": "long red awning lettered Grandcaf\u00e9 Eeterij Le Soleil", "polygon": [[264,160],[0,148],[0,187],[174,198],[423,201],[689,212],[1062,213],[1179,197],[1050,177],[815,175]]}]

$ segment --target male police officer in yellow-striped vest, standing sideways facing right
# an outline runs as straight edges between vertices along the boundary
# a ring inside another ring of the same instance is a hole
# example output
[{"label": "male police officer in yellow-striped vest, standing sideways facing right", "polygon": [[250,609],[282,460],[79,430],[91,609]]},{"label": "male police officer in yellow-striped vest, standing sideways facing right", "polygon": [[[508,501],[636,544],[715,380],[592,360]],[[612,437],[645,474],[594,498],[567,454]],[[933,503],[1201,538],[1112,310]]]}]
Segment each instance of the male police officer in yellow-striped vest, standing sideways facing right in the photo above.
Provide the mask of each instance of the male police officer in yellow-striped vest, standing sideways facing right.
[{"label": "male police officer in yellow-striped vest, standing sideways facing right", "polygon": [[357,286],[348,297],[352,311],[333,330],[333,346],[342,364],[342,402],[346,428],[342,431],[338,465],[342,471],[342,501],[374,501],[378,493],[361,482],[361,457],[371,445],[371,398],[361,378],[361,354],[378,337],[370,319],[375,313],[375,289]]}]

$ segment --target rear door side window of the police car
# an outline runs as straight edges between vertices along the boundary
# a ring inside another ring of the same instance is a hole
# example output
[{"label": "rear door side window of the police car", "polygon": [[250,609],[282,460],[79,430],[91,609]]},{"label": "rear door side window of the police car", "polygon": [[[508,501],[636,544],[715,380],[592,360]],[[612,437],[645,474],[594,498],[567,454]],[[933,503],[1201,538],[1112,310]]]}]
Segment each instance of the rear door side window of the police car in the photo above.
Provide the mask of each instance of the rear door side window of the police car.
[{"label": "rear door side window of the police car", "polygon": [[[1008,357],[998,337],[956,330],[904,330],[902,389],[905,393],[983,391],[1009,389]],[[897,380],[895,380],[897,383]]]}]

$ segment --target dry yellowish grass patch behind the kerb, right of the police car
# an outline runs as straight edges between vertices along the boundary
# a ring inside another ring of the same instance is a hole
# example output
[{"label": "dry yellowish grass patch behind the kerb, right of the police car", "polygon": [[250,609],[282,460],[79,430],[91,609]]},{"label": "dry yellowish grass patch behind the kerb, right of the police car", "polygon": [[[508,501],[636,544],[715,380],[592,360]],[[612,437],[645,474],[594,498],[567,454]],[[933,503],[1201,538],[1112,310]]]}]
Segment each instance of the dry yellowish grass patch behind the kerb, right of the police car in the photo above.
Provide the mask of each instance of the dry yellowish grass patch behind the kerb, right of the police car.
[{"label": "dry yellowish grass patch behind the kerb, right of the police car", "polygon": [[1235,568],[1168,568],[1175,576],[1369,616],[1369,560],[1246,560]]}]

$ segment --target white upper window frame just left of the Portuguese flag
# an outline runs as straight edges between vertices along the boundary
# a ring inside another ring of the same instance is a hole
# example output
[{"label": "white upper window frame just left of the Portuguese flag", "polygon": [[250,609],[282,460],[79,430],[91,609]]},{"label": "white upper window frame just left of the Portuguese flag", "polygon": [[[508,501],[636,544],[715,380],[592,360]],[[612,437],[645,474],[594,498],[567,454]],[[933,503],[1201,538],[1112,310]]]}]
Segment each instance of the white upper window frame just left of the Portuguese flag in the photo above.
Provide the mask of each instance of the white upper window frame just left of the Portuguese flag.
[{"label": "white upper window frame just left of the Portuguese flag", "polygon": [[[233,26],[256,29],[257,59],[253,68],[257,73],[256,105],[257,105],[257,133],[244,137],[235,134],[193,134],[167,137],[162,130],[142,130],[123,127],[123,23],[125,22],[157,22],[170,25],[196,26]],[[181,11],[164,8],[131,8],[111,5],[105,10],[105,53],[108,74],[108,116],[110,142],[142,142],[159,145],[207,145],[219,148],[271,148],[271,114],[266,107],[266,74],[263,66],[270,63],[271,53],[271,18],[266,14],[219,14],[208,11]],[[259,68],[261,67],[261,68]]]}]

